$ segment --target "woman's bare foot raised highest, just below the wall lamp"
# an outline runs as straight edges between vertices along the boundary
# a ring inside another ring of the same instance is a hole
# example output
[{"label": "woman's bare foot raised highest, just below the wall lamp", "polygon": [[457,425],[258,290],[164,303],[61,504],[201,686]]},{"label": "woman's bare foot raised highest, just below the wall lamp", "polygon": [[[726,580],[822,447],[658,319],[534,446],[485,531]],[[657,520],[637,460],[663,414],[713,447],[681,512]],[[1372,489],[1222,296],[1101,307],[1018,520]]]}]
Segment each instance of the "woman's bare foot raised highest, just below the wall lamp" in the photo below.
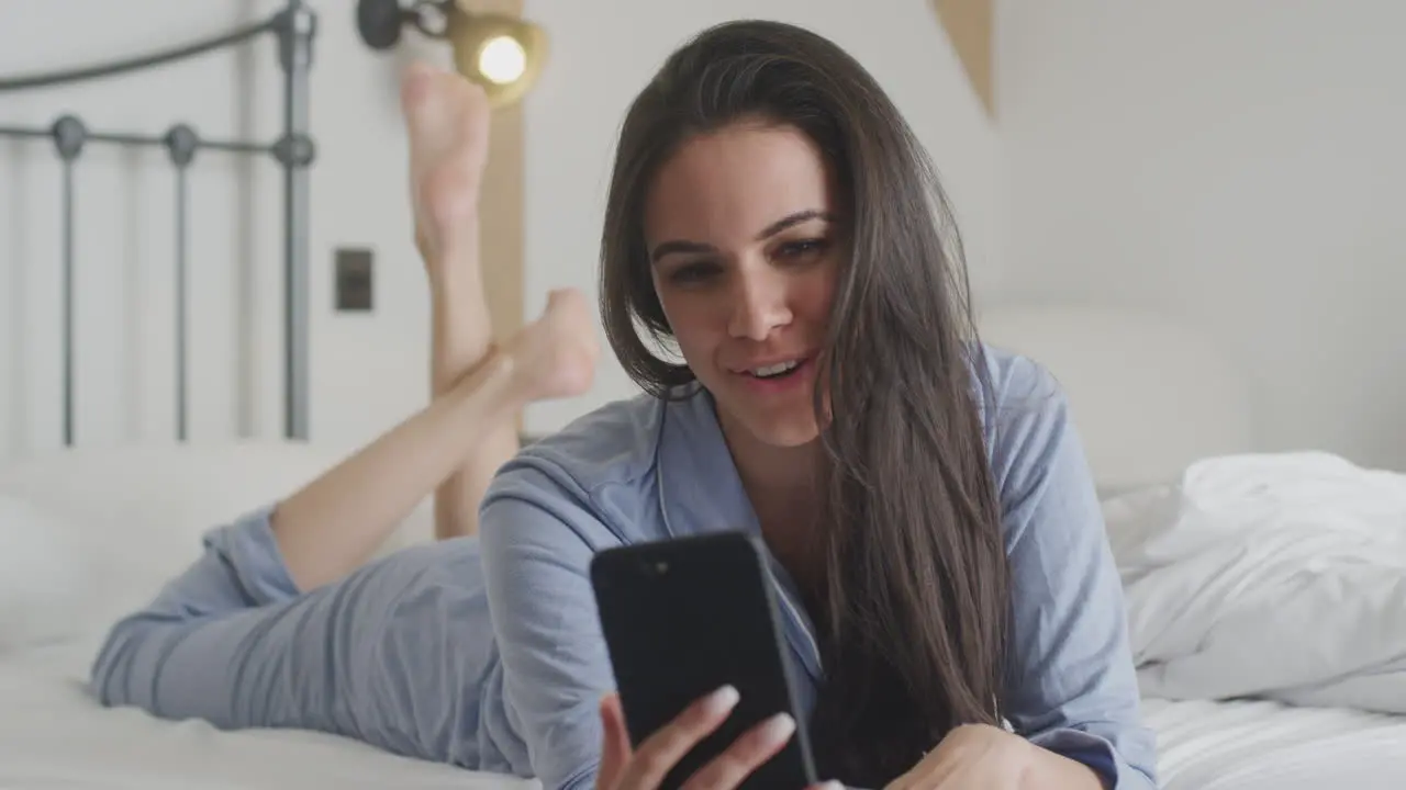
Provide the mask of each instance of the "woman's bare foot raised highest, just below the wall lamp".
[{"label": "woman's bare foot raised highest, just below the wall lamp", "polygon": [[432,278],[471,266],[475,281],[478,191],[488,160],[489,105],[484,89],[429,63],[401,82],[411,148],[415,245]]}]

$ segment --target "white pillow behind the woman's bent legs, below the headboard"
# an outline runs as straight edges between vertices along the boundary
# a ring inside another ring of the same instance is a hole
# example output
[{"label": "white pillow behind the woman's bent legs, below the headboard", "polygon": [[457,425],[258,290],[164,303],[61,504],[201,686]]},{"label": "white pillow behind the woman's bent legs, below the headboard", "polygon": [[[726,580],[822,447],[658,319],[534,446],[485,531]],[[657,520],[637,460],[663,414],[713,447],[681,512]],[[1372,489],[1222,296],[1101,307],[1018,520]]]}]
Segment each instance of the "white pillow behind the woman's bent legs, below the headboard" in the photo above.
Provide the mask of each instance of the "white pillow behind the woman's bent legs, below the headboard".
[{"label": "white pillow behind the woman's bent legs, below the headboard", "polygon": [[[0,551],[13,543],[34,566],[0,586],[0,606],[32,630],[45,613],[75,606],[59,568],[84,568],[76,620],[110,623],[193,562],[207,530],[292,493],[343,457],[305,443],[238,441],[75,448],[0,465],[0,498],[30,507],[11,519],[14,534],[0,530]],[[426,499],[381,552],[432,536]],[[0,572],[11,564],[0,561]]]}]

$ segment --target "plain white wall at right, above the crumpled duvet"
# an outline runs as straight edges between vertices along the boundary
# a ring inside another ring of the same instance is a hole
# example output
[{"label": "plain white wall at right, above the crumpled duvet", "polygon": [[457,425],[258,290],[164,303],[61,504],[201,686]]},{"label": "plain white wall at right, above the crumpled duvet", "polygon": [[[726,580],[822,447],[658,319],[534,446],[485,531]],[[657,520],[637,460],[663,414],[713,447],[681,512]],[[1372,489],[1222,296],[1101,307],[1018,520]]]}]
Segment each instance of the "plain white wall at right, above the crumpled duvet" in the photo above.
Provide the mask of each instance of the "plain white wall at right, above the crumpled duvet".
[{"label": "plain white wall at right, above the crumpled duvet", "polygon": [[1406,468],[1406,4],[1005,1],[1004,292],[1199,322],[1265,448]]}]

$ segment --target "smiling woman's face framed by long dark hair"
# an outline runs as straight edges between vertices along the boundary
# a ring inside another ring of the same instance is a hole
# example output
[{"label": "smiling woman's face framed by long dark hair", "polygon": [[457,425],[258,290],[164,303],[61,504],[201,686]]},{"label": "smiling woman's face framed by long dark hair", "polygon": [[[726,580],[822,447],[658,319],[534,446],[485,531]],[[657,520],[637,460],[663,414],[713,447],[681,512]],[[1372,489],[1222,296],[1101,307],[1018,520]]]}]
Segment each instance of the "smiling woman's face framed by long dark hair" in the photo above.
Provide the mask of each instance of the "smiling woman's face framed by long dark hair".
[{"label": "smiling woman's face framed by long dark hair", "polygon": [[770,446],[815,439],[815,357],[842,245],[831,173],[787,127],[696,136],[652,183],[654,287],[724,426]]}]

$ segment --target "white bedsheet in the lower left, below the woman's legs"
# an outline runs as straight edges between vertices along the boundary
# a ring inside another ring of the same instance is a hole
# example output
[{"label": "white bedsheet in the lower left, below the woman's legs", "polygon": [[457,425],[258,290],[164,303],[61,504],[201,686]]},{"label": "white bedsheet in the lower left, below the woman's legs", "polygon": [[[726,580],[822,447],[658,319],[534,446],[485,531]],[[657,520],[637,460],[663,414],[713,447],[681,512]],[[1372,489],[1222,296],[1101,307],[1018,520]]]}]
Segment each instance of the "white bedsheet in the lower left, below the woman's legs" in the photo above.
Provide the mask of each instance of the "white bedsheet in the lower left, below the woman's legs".
[{"label": "white bedsheet in the lower left, below the woman's legs", "polygon": [[0,656],[4,790],[529,790],[536,782],[404,759],[315,732],[222,732],[98,707],[90,640]]}]

